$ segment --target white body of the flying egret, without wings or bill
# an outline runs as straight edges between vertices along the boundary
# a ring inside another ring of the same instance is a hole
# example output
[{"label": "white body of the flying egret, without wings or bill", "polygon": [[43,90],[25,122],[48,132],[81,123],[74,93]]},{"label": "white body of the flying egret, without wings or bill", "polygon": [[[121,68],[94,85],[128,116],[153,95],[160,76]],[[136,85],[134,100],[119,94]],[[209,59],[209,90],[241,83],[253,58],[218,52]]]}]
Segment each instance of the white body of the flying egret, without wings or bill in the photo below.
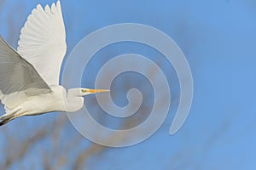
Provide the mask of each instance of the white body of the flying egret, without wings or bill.
[{"label": "white body of the flying egret, without wings or bill", "polygon": [[[82,93],[79,94],[79,88],[73,88],[66,92],[62,86],[51,86],[51,92],[38,95],[26,95],[26,92],[20,92],[8,96],[3,104],[11,105],[5,106],[6,114],[0,119],[8,119],[12,116],[35,116],[41,115],[51,111],[79,111],[84,105],[84,98]],[[76,92],[76,93],[73,93]]]}]

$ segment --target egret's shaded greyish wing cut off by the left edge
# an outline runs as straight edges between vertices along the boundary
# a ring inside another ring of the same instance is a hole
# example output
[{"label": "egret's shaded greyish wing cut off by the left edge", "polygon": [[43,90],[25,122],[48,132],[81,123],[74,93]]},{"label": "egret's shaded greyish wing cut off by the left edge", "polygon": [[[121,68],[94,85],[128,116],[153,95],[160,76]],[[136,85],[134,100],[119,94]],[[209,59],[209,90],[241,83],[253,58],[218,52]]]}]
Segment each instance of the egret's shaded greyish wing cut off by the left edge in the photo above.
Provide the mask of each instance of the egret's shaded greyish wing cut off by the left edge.
[{"label": "egret's shaded greyish wing cut off by the left edge", "polygon": [[0,99],[15,92],[35,89],[34,94],[50,92],[46,82],[35,68],[15,52],[0,36]]}]

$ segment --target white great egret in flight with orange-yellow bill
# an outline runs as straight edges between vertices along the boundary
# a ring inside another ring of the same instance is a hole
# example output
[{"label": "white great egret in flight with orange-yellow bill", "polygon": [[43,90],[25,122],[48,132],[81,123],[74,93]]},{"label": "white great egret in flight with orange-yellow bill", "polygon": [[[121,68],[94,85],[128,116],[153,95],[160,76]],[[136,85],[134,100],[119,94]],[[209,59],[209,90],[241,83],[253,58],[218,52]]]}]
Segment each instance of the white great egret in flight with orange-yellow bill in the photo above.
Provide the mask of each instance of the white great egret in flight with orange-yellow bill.
[{"label": "white great egret in flight with orange-yellow bill", "polygon": [[42,8],[38,4],[20,32],[18,50],[0,36],[0,99],[5,114],[0,126],[20,116],[51,111],[79,111],[84,95],[103,89],[59,85],[61,63],[67,50],[61,3]]}]

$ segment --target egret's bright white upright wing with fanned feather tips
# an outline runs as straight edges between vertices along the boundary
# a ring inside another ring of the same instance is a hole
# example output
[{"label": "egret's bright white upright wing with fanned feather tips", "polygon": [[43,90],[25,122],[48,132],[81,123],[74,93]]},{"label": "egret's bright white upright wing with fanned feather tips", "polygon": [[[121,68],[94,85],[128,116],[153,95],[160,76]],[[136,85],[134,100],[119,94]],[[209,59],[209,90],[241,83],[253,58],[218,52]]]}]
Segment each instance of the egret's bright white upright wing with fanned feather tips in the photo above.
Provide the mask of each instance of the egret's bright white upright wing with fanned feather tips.
[{"label": "egret's bright white upright wing with fanned feather tips", "polygon": [[59,84],[61,63],[66,54],[66,33],[61,3],[38,5],[20,33],[18,53],[31,63],[50,85]]}]

